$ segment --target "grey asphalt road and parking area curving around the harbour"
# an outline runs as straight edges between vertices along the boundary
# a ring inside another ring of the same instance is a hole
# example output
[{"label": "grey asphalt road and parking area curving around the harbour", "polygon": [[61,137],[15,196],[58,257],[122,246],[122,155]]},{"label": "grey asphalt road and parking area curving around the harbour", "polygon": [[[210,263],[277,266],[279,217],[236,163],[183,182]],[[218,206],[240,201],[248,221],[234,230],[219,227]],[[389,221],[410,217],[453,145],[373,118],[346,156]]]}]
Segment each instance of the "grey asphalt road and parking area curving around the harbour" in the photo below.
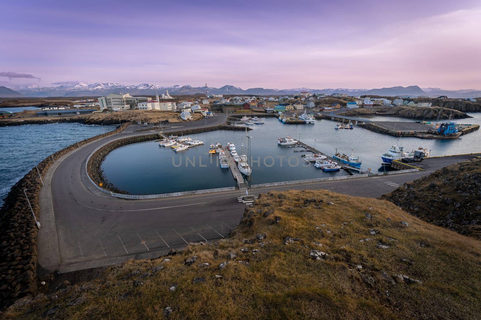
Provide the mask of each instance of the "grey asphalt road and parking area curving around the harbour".
[{"label": "grey asphalt road and parking area curving around the harbour", "polygon": [[[225,115],[207,119],[207,125],[224,123]],[[205,121],[172,124],[168,130],[198,128]],[[119,137],[139,134],[129,126],[115,134],[64,155],[49,169],[41,190],[38,262],[40,273],[71,271],[119,263],[132,258],[152,258],[188,242],[225,237],[234,228],[246,204],[245,191],[129,201],[96,190],[87,180],[85,161],[99,145]],[[142,127],[143,129],[143,127]],[[150,133],[143,131],[141,133]],[[472,156],[432,161],[430,170],[392,176],[357,178],[253,190],[328,189],[348,195],[379,197],[406,181],[429,174],[440,166]],[[43,269],[43,270],[42,270]]]}]

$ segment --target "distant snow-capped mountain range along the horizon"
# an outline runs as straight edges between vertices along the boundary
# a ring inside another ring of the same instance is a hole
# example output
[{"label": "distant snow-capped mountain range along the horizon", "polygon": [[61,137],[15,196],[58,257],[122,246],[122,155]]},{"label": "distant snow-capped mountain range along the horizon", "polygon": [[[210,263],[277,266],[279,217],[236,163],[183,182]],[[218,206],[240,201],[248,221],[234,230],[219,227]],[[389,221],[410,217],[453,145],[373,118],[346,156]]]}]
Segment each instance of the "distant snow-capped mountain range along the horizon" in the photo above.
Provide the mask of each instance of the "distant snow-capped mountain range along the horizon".
[{"label": "distant snow-capped mountain range along the horizon", "polygon": [[[2,89],[3,88],[3,89]],[[464,89],[464,90],[443,90],[440,88],[420,88],[417,85],[407,87],[395,86],[389,88],[379,89],[310,89],[310,88],[292,88],[292,89],[265,89],[265,88],[249,88],[242,89],[233,85],[224,85],[220,88],[208,87],[210,94],[215,95],[291,95],[301,91],[308,91],[310,93],[331,95],[333,93],[342,93],[348,95],[381,95],[381,96],[396,96],[396,95],[424,95],[424,96],[439,96],[447,95],[455,98],[476,97],[481,95],[480,90]],[[191,85],[174,85],[170,87],[159,86],[151,83],[141,83],[139,85],[123,85],[120,83],[76,83],[64,84],[56,87],[41,87],[33,84],[25,87],[0,87],[0,96],[15,97],[15,96],[29,96],[29,97],[48,97],[48,96],[96,96],[106,95],[109,93],[129,93],[131,95],[155,95],[169,91],[171,95],[196,95],[204,94],[205,87],[193,87]]]}]

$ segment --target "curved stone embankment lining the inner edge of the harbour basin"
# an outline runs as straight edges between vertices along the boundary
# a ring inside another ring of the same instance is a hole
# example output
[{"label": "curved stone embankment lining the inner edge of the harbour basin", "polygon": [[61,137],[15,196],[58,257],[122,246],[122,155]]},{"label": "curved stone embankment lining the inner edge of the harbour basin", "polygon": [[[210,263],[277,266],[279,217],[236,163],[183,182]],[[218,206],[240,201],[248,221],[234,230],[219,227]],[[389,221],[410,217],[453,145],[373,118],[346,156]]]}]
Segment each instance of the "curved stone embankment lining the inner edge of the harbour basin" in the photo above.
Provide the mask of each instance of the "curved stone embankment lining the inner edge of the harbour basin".
[{"label": "curved stone embankment lining the inner edge of the harbour basin", "polygon": [[[177,131],[169,131],[165,133],[165,135],[189,135],[189,134],[198,134],[202,132],[208,131],[215,131],[215,130],[237,130],[237,131],[244,131],[244,127],[233,127],[233,126],[226,126],[226,125],[219,125],[213,127],[204,127],[204,128],[196,128],[196,129],[187,129],[187,130],[177,130]],[[251,128],[247,128],[247,130],[252,130]],[[123,193],[128,194],[125,190],[119,190],[116,188],[112,183],[110,183],[103,171],[101,170],[101,165],[103,160],[107,154],[111,153],[114,149],[122,147],[127,144],[137,143],[137,142],[146,142],[152,141],[161,138],[158,133],[152,134],[143,134],[137,136],[126,137],[124,139],[114,140],[110,143],[107,143],[99,150],[94,152],[90,157],[89,163],[87,164],[87,172],[89,174],[90,179],[99,186],[102,184],[101,188],[103,190],[112,191],[115,193]]]}]

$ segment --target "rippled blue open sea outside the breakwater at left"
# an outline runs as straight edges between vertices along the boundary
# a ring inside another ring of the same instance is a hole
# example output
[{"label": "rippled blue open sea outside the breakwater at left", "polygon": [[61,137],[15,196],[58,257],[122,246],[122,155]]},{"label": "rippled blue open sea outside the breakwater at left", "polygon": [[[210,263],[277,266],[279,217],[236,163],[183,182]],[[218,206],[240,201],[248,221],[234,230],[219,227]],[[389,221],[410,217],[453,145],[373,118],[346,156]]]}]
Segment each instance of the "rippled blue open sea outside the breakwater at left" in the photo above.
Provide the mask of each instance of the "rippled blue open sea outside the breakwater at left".
[{"label": "rippled blue open sea outside the breakwater at left", "polygon": [[[11,108],[9,108],[11,109]],[[116,126],[103,126],[105,132]],[[101,126],[56,123],[0,127],[0,206],[10,188],[51,153],[102,133]]]}]

